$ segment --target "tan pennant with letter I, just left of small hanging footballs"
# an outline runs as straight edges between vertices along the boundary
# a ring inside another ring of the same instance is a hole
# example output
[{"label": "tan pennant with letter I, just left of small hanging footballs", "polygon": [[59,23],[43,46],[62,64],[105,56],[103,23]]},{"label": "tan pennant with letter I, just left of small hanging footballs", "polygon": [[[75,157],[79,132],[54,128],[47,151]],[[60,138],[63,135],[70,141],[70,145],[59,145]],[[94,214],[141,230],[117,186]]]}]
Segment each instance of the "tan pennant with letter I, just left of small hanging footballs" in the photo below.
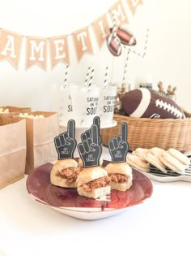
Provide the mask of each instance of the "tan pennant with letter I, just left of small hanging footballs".
[{"label": "tan pennant with letter I, just left of small hanging footballs", "polygon": [[109,31],[109,25],[108,25],[108,20],[107,20],[107,15],[104,14],[102,15],[98,20],[96,20],[92,24],[98,46],[101,48],[101,46],[104,43],[105,38],[108,36],[110,33]]}]

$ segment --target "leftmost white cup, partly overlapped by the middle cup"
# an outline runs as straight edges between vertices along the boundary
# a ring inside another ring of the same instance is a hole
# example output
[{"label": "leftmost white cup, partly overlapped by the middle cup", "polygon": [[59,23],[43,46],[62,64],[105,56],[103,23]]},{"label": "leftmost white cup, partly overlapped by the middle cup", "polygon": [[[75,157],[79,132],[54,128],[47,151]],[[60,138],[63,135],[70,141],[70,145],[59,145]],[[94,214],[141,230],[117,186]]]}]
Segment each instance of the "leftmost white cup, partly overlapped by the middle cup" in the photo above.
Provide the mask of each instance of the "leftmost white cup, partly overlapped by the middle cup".
[{"label": "leftmost white cup, partly overlapped by the middle cup", "polygon": [[70,119],[73,119],[73,108],[71,104],[70,86],[65,89],[54,87],[51,92],[52,110],[59,112],[59,122],[67,125]]}]

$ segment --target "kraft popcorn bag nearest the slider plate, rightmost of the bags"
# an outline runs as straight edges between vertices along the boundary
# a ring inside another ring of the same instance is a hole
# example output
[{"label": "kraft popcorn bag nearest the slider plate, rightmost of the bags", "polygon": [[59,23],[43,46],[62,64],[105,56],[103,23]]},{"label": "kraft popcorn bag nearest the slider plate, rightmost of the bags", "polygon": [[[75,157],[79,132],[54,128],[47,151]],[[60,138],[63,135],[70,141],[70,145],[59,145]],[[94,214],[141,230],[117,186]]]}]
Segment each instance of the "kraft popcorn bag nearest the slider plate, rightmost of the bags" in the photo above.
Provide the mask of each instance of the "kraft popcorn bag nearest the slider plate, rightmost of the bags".
[{"label": "kraft popcorn bag nearest the slider plate, rightmost of the bags", "polygon": [[54,137],[59,134],[57,112],[35,111],[30,115],[44,115],[45,118],[28,118],[15,115],[13,119],[26,119],[27,158],[25,172],[30,174],[36,167],[57,160]]}]

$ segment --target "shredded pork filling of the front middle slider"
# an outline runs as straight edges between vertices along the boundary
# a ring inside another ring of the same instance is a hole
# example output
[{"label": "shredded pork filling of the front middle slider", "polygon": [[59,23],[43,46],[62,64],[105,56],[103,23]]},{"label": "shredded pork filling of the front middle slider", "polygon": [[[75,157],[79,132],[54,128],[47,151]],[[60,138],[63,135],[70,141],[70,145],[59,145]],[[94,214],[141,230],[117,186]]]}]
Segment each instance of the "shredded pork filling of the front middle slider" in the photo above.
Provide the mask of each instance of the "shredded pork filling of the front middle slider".
[{"label": "shredded pork filling of the front middle slider", "polygon": [[110,179],[108,176],[101,177],[96,180],[91,180],[82,185],[83,189],[87,192],[92,191],[94,189],[99,189],[103,187],[107,187],[110,184]]}]

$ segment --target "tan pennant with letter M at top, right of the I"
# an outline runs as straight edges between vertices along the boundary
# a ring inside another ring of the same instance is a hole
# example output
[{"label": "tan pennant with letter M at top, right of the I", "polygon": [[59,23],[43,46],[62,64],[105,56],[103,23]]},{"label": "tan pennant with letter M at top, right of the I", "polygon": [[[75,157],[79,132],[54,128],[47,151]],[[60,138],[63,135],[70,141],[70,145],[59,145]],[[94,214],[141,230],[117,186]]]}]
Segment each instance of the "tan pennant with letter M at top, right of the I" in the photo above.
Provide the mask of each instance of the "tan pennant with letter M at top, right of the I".
[{"label": "tan pennant with letter M at top, right of the I", "polygon": [[110,9],[109,9],[109,15],[111,20],[113,20],[113,15],[116,20],[117,26],[120,26],[121,24],[128,24],[129,20],[127,19],[127,15],[125,13],[125,8],[120,1],[117,1]]}]

